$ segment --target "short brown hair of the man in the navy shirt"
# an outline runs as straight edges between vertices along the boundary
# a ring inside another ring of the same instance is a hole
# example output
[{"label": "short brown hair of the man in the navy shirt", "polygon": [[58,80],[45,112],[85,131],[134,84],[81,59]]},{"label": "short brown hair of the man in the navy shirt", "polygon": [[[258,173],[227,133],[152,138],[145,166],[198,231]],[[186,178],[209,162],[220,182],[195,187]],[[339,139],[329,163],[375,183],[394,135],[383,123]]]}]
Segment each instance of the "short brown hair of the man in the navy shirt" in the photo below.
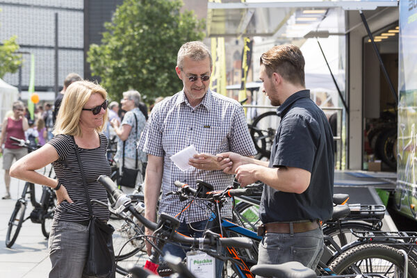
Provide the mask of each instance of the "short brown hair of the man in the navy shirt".
[{"label": "short brown hair of the man in the navy shirt", "polygon": [[274,72],[286,81],[305,86],[304,57],[299,47],[293,44],[277,45],[261,56],[261,65],[265,66],[266,74]]}]

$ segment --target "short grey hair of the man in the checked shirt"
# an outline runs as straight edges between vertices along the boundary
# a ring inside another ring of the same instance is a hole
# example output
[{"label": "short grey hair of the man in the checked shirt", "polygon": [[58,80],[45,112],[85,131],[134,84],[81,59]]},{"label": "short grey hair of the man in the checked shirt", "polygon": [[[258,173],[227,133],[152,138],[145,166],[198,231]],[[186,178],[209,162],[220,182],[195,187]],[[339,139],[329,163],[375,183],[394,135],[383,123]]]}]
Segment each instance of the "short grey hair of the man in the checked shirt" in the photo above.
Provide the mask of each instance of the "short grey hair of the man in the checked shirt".
[{"label": "short grey hair of the man in the checked shirt", "polygon": [[177,55],[177,66],[182,69],[184,58],[189,57],[195,61],[201,61],[207,57],[210,59],[210,68],[213,67],[213,60],[211,60],[211,53],[206,44],[198,41],[186,42],[181,46]]}]

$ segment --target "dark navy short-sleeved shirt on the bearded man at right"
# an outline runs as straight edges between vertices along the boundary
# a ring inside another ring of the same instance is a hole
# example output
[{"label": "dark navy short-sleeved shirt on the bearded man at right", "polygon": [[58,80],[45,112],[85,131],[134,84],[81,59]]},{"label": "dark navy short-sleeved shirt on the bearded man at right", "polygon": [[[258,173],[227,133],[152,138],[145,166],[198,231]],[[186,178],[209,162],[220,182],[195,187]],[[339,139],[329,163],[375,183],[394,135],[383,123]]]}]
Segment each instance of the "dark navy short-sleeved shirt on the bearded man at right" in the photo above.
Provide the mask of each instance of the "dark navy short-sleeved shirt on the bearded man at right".
[{"label": "dark navy short-sleeved shirt on the bearded man at right", "polygon": [[302,194],[263,188],[259,214],[263,223],[328,220],[333,211],[334,145],[323,111],[302,90],[279,106],[281,122],[269,167],[297,167],[311,172]]}]

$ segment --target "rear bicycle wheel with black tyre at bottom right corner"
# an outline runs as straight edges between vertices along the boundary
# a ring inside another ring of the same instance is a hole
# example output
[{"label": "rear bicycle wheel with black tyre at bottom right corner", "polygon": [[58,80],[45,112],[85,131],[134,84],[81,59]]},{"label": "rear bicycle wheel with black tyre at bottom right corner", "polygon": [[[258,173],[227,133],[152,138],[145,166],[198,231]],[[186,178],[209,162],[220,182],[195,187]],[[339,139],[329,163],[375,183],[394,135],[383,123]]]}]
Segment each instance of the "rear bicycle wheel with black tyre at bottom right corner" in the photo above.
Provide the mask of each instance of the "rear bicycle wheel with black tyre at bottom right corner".
[{"label": "rear bicycle wheel with black tyre at bottom right corner", "polygon": [[[343,252],[329,267],[338,275],[373,273],[382,277],[403,277],[404,257],[398,249],[388,245],[363,244]],[[416,266],[410,262],[408,277],[417,277]]]}]

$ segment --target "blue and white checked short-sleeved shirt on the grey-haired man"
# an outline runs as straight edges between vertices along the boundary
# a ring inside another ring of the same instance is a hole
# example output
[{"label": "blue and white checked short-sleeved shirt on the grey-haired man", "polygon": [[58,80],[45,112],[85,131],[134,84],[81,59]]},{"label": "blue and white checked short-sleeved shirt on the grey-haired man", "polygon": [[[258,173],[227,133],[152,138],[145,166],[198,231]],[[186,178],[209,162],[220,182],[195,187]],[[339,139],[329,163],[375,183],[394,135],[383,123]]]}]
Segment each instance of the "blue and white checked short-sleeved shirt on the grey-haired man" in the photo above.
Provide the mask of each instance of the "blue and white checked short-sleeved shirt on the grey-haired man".
[{"label": "blue and white checked short-sleeved shirt on the grey-haired man", "polygon": [[[170,156],[194,145],[198,153],[219,154],[236,152],[243,156],[256,154],[254,143],[245,122],[243,107],[228,97],[208,90],[202,102],[193,108],[183,91],[164,99],[154,106],[139,147],[153,156],[163,156],[162,199],[159,212],[177,215],[188,202],[180,202],[178,196],[165,194],[177,190],[174,181],[196,188],[196,179],[211,183],[215,190],[233,184],[234,175],[222,171],[205,171],[190,167],[181,171]],[[222,215],[231,218],[231,204],[226,204]],[[193,202],[178,218],[182,222],[208,219],[209,211],[199,202]]]}]

